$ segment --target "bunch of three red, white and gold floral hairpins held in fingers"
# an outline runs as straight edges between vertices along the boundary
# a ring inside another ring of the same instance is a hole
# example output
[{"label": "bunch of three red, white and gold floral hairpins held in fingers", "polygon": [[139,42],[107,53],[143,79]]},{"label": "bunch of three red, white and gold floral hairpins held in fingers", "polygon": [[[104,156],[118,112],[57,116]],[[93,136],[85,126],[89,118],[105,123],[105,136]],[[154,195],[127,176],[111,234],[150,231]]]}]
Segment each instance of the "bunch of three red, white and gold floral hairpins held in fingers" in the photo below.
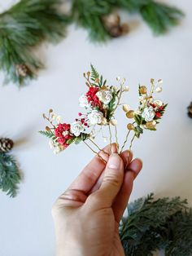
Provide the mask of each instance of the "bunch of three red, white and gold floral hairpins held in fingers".
[{"label": "bunch of three red, white and gold floral hairpins held in fingers", "polygon": [[[112,142],[111,127],[114,126],[119,153],[123,151],[131,132],[133,132],[133,137],[129,149],[132,148],[133,139],[139,138],[143,130],[156,130],[156,125],[159,124],[167,106],[159,99],[154,99],[154,94],[162,91],[161,83],[163,81],[161,79],[157,82],[151,79],[149,92],[146,86],[139,86],[139,107],[137,110],[133,110],[129,105],[121,103],[122,95],[129,91],[129,87],[124,86],[125,79],[117,77],[119,86],[108,86],[107,80],[103,80],[103,76],[99,75],[93,65],[91,65],[91,72],[84,73],[84,77],[88,90],[81,95],[79,104],[85,108],[85,113],[78,113],[78,117],[70,124],[62,122],[61,117],[53,113],[52,109],[50,109],[48,116],[43,114],[50,126],[46,126],[46,130],[40,131],[40,133],[50,138],[50,148],[53,148],[55,153],[63,151],[72,143],[82,141],[94,153],[98,154],[92,146],[101,150],[94,139],[100,131],[103,133],[104,126],[108,129],[109,138],[103,137],[105,140],[109,139],[110,145]],[[126,117],[132,120],[127,125],[128,132],[121,148],[118,143],[115,117],[116,109],[120,106],[122,106]],[[100,156],[98,155],[98,157]]]}]

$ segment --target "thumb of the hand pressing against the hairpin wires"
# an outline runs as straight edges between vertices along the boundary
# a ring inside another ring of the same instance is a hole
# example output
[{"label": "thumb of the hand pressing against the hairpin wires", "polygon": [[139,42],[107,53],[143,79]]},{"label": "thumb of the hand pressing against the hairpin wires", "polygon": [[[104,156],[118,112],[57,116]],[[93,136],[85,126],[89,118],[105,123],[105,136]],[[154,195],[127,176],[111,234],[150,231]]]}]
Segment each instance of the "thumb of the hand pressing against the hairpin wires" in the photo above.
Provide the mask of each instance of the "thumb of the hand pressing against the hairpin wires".
[{"label": "thumb of the hand pressing against the hairpin wires", "polygon": [[91,194],[88,199],[92,207],[107,208],[111,207],[124,179],[124,163],[116,153],[111,154],[104,172],[103,183],[98,191]]}]

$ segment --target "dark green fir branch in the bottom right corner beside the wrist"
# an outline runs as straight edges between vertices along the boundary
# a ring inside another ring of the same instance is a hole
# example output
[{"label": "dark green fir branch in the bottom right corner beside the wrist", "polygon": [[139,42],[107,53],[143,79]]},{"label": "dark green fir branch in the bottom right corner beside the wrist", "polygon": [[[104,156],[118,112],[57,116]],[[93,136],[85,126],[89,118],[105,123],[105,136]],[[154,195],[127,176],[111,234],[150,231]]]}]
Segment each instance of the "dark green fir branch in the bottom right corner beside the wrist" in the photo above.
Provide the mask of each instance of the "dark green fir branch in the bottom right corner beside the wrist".
[{"label": "dark green fir branch in the bottom right corner beside the wrist", "polygon": [[154,200],[153,194],[129,204],[122,219],[120,238],[125,255],[152,256],[165,249],[166,256],[190,256],[192,210],[180,197]]}]

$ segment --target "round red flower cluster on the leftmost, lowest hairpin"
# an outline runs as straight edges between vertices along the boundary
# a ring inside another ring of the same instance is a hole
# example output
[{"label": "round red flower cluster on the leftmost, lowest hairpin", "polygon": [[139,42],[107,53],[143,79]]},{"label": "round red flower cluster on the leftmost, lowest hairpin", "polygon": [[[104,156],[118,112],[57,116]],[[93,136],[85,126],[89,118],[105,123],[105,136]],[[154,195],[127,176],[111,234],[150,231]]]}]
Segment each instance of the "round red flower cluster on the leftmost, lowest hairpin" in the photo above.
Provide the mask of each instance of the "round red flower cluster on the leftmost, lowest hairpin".
[{"label": "round red flower cluster on the leftmost, lowest hairpin", "polygon": [[[64,135],[63,132],[67,131],[67,134]],[[73,135],[70,134],[70,125],[63,123],[59,124],[55,129],[55,136],[58,138],[58,142],[64,147],[68,148],[69,144],[67,143],[68,139],[72,139]]]}]

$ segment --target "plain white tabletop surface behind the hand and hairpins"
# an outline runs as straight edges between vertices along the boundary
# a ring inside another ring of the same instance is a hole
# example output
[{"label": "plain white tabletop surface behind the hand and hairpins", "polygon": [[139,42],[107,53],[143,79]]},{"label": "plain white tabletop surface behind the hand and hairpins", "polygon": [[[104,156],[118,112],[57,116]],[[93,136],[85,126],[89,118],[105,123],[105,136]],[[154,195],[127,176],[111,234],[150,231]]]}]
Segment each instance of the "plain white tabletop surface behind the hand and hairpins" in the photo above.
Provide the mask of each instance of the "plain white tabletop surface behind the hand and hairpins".
[{"label": "plain white tabletop surface behind the hand and hairpins", "polygon": [[[148,83],[151,77],[164,79],[161,99],[168,102],[168,111],[158,131],[146,132],[134,143],[133,152],[144,166],[131,199],[155,192],[157,196],[180,195],[192,201],[192,120],[186,116],[192,100],[192,3],[168,2],[186,13],[181,25],[168,35],[154,38],[140,22],[127,37],[95,46],[84,30],[71,27],[68,38],[43,50],[47,68],[37,81],[22,90],[13,85],[0,87],[0,134],[15,140],[13,153],[24,174],[15,199],[0,193],[1,256],[55,255],[51,205],[93,155],[81,144],[55,157],[46,138],[37,131],[46,125],[41,113],[50,107],[66,121],[76,117],[78,97],[86,90],[82,73],[90,62],[111,83],[116,82],[117,75],[128,79],[127,100],[134,108],[139,82]],[[137,16],[128,20],[135,24]],[[122,115],[121,140],[124,127]]]}]

